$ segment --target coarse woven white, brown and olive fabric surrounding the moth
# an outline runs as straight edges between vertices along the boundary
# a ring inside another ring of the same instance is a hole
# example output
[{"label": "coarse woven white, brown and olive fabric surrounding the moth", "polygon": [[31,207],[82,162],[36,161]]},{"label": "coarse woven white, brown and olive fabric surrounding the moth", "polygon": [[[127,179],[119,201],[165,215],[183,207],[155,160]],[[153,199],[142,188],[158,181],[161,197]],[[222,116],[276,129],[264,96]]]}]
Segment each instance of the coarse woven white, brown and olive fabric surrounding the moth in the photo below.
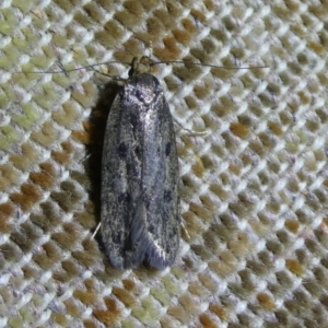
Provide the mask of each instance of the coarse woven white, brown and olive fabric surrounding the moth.
[{"label": "coarse woven white, brown and olive fabric surrounding the moth", "polygon": [[[328,327],[327,28],[316,0],[1,1],[0,327]],[[141,55],[267,66],[156,67],[185,225],[163,271],[91,238],[116,91],[65,73]]]}]

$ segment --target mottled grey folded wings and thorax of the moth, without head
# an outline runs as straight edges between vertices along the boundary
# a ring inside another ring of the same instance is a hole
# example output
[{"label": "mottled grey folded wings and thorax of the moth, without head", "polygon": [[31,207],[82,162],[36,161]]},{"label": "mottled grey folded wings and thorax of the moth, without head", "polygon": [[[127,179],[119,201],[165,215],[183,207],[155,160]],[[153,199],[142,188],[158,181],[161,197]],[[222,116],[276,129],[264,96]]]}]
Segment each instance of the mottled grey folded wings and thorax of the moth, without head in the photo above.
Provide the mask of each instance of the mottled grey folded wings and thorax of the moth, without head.
[{"label": "mottled grey folded wings and thorax of the moth, without head", "polygon": [[132,75],[118,93],[102,173],[102,236],[112,265],[172,265],[179,244],[178,162],[172,116],[155,77]]}]

